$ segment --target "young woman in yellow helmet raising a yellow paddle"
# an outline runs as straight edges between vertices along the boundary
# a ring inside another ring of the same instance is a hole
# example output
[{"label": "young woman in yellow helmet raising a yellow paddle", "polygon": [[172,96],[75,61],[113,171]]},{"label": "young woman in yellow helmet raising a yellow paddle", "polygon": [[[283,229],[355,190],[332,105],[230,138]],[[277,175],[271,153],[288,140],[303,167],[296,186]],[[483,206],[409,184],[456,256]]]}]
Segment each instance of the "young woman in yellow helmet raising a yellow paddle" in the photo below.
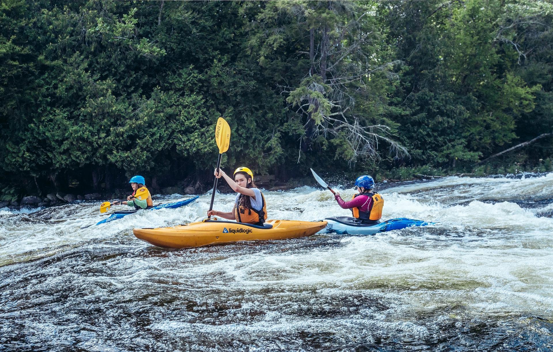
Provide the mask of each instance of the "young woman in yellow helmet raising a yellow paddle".
[{"label": "young woman in yellow helmet raising a yellow paddle", "polygon": [[234,170],[233,180],[223,170],[219,169],[217,173],[217,169],[215,169],[215,177],[223,177],[238,194],[234,201],[234,209],[231,212],[210,210],[207,215],[221,216],[228,220],[263,226],[263,223],[267,220],[267,204],[265,204],[265,197],[253,183],[252,170],[247,167],[237,168]]}]

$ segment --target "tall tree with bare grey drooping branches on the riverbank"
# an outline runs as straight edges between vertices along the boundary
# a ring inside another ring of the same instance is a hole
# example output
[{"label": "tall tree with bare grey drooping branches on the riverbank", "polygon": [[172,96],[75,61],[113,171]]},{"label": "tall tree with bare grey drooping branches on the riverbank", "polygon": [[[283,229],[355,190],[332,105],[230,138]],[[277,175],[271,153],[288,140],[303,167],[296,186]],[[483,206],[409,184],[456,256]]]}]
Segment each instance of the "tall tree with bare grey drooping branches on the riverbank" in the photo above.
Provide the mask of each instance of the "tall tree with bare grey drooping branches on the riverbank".
[{"label": "tall tree with bare grey drooping branches on the riverbank", "polygon": [[252,21],[248,49],[271,72],[290,104],[293,114],[285,128],[299,134],[302,150],[333,146],[335,158],[353,162],[378,158],[382,141],[406,154],[387,136],[395,126],[385,117],[395,76],[387,74],[393,62],[377,28],[374,5],[264,5]]}]

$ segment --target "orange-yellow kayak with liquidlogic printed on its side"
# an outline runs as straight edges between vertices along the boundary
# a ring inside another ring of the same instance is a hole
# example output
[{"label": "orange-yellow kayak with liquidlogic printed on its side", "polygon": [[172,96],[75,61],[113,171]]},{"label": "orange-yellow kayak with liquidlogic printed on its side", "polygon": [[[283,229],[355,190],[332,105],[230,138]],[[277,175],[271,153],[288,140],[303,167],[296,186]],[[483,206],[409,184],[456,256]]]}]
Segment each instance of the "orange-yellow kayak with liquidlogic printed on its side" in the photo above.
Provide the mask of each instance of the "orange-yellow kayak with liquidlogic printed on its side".
[{"label": "orange-yellow kayak with liquidlogic printed on its side", "polygon": [[158,228],[135,228],[134,236],[158,247],[187,248],[213,243],[285,239],[311,236],[326,221],[267,220],[264,226],[222,220],[192,222],[188,225]]}]

